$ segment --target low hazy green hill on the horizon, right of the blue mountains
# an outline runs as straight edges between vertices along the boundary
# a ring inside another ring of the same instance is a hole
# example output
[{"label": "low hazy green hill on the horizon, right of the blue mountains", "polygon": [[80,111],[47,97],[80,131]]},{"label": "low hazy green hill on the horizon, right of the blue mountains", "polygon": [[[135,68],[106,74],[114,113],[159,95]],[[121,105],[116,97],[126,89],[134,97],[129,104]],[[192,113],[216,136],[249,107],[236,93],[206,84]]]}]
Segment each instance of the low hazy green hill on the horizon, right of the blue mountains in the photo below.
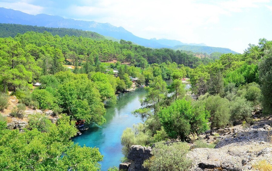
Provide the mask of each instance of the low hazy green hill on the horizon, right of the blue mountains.
[{"label": "low hazy green hill on the horizon, right of the blue mountains", "polygon": [[211,54],[213,52],[219,52],[222,54],[227,54],[227,53],[238,54],[237,52],[232,51],[231,49],[228,49],[228,48],[216,48],[211,46],[177,45],[177,46],[174,46],[172,49],[192,51],[195,53],[200,52],[200,53],[207,53],[207,54]]}]

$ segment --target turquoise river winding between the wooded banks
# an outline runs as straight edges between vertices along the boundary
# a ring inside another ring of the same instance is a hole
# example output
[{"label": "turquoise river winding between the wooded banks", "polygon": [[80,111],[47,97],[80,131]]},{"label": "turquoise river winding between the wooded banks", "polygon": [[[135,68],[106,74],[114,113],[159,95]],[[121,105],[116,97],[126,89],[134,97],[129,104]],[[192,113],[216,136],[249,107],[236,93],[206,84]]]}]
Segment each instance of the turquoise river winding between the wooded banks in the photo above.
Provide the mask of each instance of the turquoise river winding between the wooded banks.
[{"label": "turquoise river winding between the wooded banks", "polygon": [[74,143],[84,144],[90,147],[98,147],[103,157],[100,162],[101,170],[107,171],[109,167],[119,166],[123,157],[121,152],[121,135],[126,127],[132,127],[134,123],[142,122],[140,117],[135,117],[131,112],[141,107],[139,102],[146,95],[143,88],[128,93],[121,93],[117,97],[116,105],[107,105],[106,123],[101,126],[89,125],[89,130],[82,135],[73,138]]}]

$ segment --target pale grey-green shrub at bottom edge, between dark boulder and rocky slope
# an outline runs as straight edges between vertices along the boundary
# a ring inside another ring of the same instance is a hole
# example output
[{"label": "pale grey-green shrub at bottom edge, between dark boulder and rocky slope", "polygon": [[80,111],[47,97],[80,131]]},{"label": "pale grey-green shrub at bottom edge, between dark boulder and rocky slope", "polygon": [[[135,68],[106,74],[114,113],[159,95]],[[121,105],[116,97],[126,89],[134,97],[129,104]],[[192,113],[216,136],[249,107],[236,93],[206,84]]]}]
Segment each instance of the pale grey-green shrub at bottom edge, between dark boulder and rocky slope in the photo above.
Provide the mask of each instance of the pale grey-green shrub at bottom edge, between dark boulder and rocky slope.
[{"label": "pale grey-green shrub at bottom edge, between dark boulder and rocky slope", "polygon": [[144,161],[143,166],[149,171],[186,171],[192,162],[186,157],[189,146],[187,143],[173,143],[169,146],[162,142],[156,143],[153,156]]}]

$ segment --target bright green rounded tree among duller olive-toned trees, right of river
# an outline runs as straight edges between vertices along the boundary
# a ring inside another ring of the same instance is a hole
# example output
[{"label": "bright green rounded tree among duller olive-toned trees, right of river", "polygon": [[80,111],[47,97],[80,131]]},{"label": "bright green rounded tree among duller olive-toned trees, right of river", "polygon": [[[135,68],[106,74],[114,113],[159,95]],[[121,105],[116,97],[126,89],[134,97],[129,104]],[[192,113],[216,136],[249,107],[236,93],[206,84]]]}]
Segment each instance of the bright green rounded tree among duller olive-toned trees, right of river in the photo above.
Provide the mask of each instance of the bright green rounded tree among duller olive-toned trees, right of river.
[{"label": "bright green rounded tree among duller olive-toned trees, right of river", "polygon": [[180,137],[184,141],[189,133],[207,129],[208,112],[204,107],[192,107],[190,101],[176,100],[158,113],[160,122],[170,138]]}]

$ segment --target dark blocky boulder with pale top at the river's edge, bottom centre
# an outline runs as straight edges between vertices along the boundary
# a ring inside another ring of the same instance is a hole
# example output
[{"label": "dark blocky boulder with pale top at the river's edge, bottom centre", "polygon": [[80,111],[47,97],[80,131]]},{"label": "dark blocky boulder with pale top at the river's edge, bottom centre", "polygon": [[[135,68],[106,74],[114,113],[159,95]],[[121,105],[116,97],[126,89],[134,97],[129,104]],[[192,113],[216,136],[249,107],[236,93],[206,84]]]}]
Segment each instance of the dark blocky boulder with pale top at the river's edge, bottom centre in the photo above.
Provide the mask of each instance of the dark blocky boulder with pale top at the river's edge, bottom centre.
[{"label": "dark blocky boulder with pale top at the river's edge, bottom centre", "polygon": [[[143,167],[143,162],[152,156],[151,147],[143,147],[140,145],[133,145],[130,147],[127,158],[131,160],[130,164],[121,163],[119,169],[125,169],[128,166],[128,171],[147,171]],[[123,168],[124,167],[124,168]]]}]

